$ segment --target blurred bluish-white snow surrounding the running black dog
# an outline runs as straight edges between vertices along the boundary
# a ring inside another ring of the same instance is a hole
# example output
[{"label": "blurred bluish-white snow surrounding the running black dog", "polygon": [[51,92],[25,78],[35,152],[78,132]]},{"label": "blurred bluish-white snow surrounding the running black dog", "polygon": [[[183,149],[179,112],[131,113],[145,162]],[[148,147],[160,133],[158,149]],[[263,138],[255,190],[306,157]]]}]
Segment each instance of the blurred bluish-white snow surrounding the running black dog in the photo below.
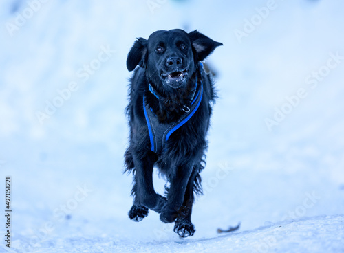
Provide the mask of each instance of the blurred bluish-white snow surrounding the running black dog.
[{"label": "blurred bluish-white snow surrounding the running black dog", "polygon": [[[10,252],[344,252],[343,11],[341,0],[1,1]],[[184,240],[154,212],[127,218],[122,174],[127,53],[173,28],[224,43],[207,60],[220,98]]]}]

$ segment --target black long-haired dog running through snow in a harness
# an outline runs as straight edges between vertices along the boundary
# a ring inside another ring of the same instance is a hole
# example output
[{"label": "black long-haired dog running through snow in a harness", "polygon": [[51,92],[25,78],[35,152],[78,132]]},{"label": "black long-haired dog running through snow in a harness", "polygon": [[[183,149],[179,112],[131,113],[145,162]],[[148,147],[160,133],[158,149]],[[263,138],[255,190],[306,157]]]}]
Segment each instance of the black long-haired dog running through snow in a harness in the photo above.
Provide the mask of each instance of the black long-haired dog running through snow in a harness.
[{"label": "black long-haired dog running through snow in a harness", "polygon": [[[200,61],[219,45],[196,30],[162,30],[148,40],[138,38],[128,54],[127,69],[136,69],[129,87],[130,142],[125,153],[126,170],[133,170],[134,177],[133,221],[141,221],[151,209],[165,223],[175,221],[180,236],[195,232],[193,193],[202,192],[199,173],[215,100]],[[166,197],[153,188],[153,166],[169,181]]]}]

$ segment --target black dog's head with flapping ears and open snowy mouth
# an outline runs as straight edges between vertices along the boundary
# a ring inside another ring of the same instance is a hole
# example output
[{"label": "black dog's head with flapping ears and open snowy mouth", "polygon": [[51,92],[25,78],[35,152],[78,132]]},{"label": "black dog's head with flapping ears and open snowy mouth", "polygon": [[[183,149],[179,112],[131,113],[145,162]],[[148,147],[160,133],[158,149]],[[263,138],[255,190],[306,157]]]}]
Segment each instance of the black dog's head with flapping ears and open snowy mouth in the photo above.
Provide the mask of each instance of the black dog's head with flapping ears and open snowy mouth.
[{"label": "black dog's head with flapping ears and open snowy mouth", "polygon": [[222,43],[197,30],[153,32],[148,40],[135,41],[127,57],[127,69],[132,71],[139,65],[146,69],[147,78],[155,87],[176,89],[189,83],[198,61],[204,60],[219,45]]}]

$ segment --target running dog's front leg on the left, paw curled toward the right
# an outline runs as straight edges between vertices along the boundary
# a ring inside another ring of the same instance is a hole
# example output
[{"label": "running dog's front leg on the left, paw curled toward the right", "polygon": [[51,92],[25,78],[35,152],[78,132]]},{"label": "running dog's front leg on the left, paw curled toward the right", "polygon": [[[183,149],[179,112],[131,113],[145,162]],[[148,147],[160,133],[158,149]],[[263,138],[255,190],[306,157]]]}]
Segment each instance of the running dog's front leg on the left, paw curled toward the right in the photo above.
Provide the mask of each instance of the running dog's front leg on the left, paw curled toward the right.
[{"label": "running dog's front leg on the left, paw curled toward the right", "polygon": [[155,212],[161,212],[166,199],[158,195],[153,187],[153,157],[148,154],[140,158],[133,155],[133,163],[135,166],[134,206],[144,206]]}]

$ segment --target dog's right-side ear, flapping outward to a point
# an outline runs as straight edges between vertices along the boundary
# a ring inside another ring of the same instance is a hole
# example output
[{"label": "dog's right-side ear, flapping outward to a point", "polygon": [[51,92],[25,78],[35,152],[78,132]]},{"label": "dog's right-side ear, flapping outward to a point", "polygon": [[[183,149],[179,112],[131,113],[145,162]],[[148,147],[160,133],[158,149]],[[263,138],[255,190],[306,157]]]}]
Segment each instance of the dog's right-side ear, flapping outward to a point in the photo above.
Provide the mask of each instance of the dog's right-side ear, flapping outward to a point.
[{"label": "dog's right-side ear, flapping outward to a point", "polygon": [[191,45],[195,49],[197,53],[198,61],[203,61],[206,56],[211,54],[215,50],[216,47],[219,45],[223,45],[220,42],[213,41],[212,39],[208,38],[204,34],[201,34],[197,30],[193,32],[189,32],[189,39],[191,41]]}]

